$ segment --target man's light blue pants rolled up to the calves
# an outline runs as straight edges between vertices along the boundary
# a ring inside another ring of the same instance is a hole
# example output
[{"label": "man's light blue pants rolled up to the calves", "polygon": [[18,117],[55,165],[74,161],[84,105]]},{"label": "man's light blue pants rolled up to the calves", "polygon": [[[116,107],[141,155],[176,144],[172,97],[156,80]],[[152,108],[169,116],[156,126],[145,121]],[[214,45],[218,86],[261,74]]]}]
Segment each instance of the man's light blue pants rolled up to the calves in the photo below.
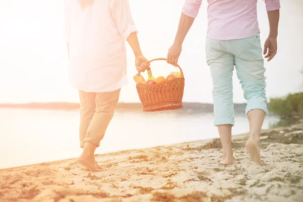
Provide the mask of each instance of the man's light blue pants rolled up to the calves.
[{"label": "man's light blue pants rolled up to the calves", "polygon": [[245,113],[260,109],[268,113],[265,93],[265,67],[260,34],[233,39],[206,40],[207,64],[213,78],[214,125],[234,126],[232,74],[236,68],[238,79],[247,100]]}]

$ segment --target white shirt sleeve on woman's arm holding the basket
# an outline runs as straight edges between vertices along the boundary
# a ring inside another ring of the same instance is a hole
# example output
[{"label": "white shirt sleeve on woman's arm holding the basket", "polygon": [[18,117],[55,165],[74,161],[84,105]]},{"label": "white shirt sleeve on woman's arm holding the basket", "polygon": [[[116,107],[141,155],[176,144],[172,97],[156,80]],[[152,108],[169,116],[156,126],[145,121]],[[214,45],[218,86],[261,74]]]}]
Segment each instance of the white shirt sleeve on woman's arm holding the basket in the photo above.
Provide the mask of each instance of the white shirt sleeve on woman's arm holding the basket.
[{"label": "white shirt sleeve on woman's arm holding the basket", "polygon": [[125,40],[127,40],[131,33],[138,32],[131,16],[128,0],[113,0],[112,16]]}]

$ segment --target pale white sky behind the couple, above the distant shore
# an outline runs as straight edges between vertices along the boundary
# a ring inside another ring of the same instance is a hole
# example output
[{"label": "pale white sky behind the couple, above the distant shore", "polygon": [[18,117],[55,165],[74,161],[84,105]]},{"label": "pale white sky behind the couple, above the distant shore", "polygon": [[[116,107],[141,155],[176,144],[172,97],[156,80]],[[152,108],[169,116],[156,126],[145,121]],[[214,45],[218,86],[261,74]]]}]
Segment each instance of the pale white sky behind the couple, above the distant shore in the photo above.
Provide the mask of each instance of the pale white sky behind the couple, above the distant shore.
[{"label": "pale white sky behind the couple, above the distant shore", "polygon": [[[184,0],[130,0],[139,29],[143,54],[165,58],[173,42]],[[204,1],[181,54],[185,102],[213,103],[212,80],[206,64],[207,2]],[[303,1],[281,0],[278,54],[267,68],[267,96],[283,96],[299,90],[303,76]],[[264,1],[258,2],[262,45],[268,35]],[[77,90],[67,80],[67,53],[63,40],[63,1],[0,0],[0,103],[78,102]],[[155,76],[166,76],[174,67],[151,64]],[[120,101],[140,102],[135,82],[134,57],[128,46],[129,84]],[[146,76],[146,74],[144,75]],[[243,103],[234,72],[234,102]]]}]

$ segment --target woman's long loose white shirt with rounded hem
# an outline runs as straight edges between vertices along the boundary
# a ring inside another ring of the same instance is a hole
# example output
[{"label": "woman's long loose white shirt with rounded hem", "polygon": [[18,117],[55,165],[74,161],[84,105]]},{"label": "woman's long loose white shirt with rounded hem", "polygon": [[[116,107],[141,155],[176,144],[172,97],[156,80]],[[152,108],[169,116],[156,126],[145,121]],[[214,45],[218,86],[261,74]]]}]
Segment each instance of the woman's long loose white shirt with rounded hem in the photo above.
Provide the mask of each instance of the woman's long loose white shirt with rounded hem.
[{"label": "woman's long loose white shirt with rounded hem", "polygon": [[84,10],[78,0],[64,1],[71,85],[108,92],[127,84],[125,40],[137,31],[128,0],[94,0]]}]

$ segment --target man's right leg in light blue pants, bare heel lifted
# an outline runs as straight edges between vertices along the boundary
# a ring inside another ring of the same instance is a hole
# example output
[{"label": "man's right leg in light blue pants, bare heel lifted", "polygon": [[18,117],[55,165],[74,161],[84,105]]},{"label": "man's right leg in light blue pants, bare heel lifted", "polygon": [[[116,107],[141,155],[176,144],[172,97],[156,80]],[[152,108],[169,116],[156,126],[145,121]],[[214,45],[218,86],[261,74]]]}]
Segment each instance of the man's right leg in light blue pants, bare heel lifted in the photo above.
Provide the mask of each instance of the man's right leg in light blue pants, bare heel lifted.
[{"label": "man's right leg in light blue pants, bare heel lifted", "polygon": [[235,64],[237,76],[247,100],[246,115],[249,120],[250,138],[246,143],[250,161],[261,165],[260,133],[264,117],[267,114],[265,93],[264,60],[259,33],[245,39],[234,41],[237,49]]}]

